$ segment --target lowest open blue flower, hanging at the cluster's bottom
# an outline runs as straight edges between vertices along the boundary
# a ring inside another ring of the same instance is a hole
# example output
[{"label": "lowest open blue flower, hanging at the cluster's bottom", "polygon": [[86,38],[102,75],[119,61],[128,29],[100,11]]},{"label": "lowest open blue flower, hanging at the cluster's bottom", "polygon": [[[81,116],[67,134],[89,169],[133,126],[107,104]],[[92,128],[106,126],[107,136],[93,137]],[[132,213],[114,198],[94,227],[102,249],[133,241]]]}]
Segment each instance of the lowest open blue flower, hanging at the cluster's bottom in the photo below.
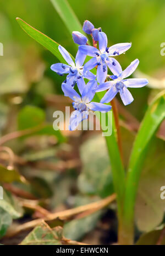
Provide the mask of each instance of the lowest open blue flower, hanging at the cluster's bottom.
[{"label": "lowest open blue flower, hanging at the cluster's bottom", "polygon": [[69,130],[75,130],[82,120],[87,119],[89,110],[106,112],[111,110],[110,105],[91,102],[95,95],[94,88],[96,88],[96,86],[97,81],[95,79],[89,81],[84,85],[84,88],[79,90],[81,94],[80,97],[75,89],[67,86],[66,83],[62,83],[62,90],[64,95],[73,100],[73,108],[75,109],[75,111],[73,111],[72,115],[70,116]]}]

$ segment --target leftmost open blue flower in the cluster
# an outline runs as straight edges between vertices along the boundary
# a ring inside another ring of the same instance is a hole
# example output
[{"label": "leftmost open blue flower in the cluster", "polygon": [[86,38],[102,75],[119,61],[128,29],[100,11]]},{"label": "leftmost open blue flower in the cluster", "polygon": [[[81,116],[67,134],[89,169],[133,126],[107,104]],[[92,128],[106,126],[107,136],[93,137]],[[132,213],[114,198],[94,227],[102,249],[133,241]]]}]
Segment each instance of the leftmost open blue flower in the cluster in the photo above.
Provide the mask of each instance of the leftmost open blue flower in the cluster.
[{"label": "leftmost open blue flower in the cluster", "polygon": [[84,71],[83,63],[86,58],[85,54],[83,54],[78,50],[78,53],[76,54],[76,57],[75,57],[75,63],[74,63],[74,61],[69,55],[69,52],[65,50],[64,47],[59,45],[58,50],[61,52],[61,55],[64,57],[68,65],[63,63],[56,63],[51,66],[51,70],[53,70],[60,76],[63,76],[63,74],[68,73],[67,79],[65,80],[65,83],[67,83],[68,86],[74,87],[75,84],[77,83],[79,89],[81,90],[81,87],[84,87],[85,85],[84,78],[94,79],[96,77],[90,71],[86,71],[86,70]]}]

